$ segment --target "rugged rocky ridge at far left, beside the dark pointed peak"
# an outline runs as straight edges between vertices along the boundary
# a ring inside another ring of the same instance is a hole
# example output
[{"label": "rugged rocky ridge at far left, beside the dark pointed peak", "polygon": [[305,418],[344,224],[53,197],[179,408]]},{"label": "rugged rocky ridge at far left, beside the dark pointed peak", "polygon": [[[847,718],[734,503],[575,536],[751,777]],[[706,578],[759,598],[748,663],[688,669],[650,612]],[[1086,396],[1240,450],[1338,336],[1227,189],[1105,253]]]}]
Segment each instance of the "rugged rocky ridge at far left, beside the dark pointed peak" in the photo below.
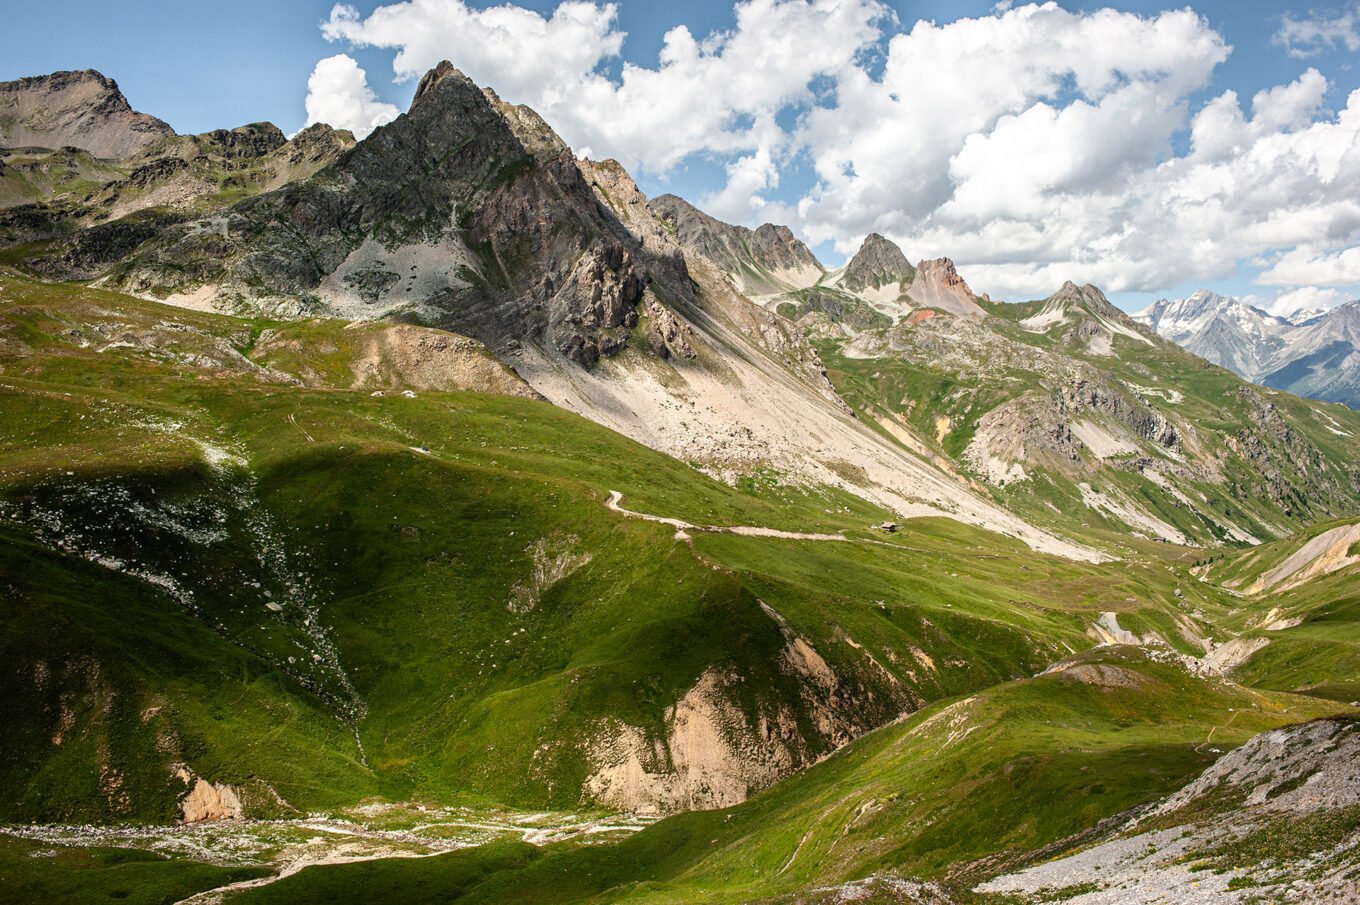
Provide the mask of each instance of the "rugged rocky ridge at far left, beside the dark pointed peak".
[{"label": "rugged rocky ridge at far left, beside the dark pointed peak", "polygon": [[328,125],[292,140],[272,122],[175,135],[92,71],[4,83],[0,97],[19,112],[0,114],[14,124],[0,135],[0,242],[33,244],[29,265],[64,279],[101,276],[167,226],[305,178],[354,146]]}]

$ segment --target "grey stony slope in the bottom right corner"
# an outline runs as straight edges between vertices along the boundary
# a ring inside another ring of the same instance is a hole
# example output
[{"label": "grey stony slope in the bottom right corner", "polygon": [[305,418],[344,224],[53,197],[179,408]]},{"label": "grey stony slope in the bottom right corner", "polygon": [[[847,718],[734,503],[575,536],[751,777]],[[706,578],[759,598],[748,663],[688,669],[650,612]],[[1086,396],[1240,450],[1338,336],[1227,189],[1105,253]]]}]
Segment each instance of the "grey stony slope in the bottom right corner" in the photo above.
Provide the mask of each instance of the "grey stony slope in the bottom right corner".
[{"label": "grey stony slope in the bottom right corner", "polygon": [[1360,723],[1266,732],[1078,851],[978,889],[1077,905],[1360,901]]}]

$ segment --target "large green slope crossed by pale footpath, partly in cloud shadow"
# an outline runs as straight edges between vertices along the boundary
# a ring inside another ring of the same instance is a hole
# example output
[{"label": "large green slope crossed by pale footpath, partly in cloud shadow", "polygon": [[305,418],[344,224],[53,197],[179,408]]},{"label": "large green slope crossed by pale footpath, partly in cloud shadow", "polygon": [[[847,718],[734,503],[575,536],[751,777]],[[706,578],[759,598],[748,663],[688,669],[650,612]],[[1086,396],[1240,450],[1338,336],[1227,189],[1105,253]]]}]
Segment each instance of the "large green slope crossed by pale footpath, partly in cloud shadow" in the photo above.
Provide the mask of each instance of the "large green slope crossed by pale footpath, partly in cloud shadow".
[{"label": "large green slope crossed by pale footpath, partly in cloud shadow", "polygon": [[[812,758],[1040,670],[1088,645],[1099,611],[1171,625],[1183,606],[1152,559],[1110,597],[1110,569],[951,521],[873,538],[884,513],[854,498],[732,489],[544,403],[288,382],[290,365],[352,382],[340,324],[291,328],[320,351],[306,362],[253,362],[262,331],[290,328],[16,278],[0,291],[23,606],[7,697],[54,676],[41,713],[14,708],[29,724],[4,751],[10,819],[167,819],[181,761],[256,788],[265,812],[374,793],[570,807],[604,717],[664,738],[711,671],[741,676],[728,694],[748,732],[778,716]],[[608,512],[608,490],[696,524],[854,540],[691,546]],[[544,551],[575,570],[515,611]],[[106,626],[114,611],[139,615]],[[793,636],[834,685],[790,670]],[[79,744],[52,742],[67,697]],[[94,795],[101,776],[125,796]]]}]

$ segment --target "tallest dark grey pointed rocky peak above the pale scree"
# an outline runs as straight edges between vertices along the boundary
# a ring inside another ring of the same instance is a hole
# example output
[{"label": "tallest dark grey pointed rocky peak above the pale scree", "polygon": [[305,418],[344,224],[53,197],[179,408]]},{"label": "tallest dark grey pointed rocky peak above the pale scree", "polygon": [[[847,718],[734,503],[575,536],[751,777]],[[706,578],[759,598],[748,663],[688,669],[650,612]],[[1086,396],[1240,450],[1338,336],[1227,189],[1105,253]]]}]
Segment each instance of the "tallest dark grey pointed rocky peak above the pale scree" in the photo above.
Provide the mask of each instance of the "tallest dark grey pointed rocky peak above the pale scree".
[{"label": "tallest dark grey pointed rocky peak above the pale scree", "polygon": [[537,114],[449,63],[333,165],[214,222],[227,226],[170,227],[113,282],[170,301],[207,287],[215,303],[279,314],[403,317],[590,366],[623,347],[645,287],[669,272]]}]

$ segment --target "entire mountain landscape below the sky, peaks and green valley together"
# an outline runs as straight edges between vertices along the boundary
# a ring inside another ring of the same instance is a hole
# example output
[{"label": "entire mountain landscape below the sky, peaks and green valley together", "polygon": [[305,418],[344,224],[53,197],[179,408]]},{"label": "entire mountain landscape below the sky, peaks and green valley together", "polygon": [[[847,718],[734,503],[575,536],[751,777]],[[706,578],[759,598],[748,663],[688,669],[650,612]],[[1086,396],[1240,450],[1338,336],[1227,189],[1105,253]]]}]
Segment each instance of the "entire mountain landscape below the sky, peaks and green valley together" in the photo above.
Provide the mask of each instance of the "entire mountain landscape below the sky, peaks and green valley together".
[{"label": "entire mountain landscape below the sky, peaks and green valley together", "polygon": [[1357,318],[0,84],[0,901],[1345,901]]}]

